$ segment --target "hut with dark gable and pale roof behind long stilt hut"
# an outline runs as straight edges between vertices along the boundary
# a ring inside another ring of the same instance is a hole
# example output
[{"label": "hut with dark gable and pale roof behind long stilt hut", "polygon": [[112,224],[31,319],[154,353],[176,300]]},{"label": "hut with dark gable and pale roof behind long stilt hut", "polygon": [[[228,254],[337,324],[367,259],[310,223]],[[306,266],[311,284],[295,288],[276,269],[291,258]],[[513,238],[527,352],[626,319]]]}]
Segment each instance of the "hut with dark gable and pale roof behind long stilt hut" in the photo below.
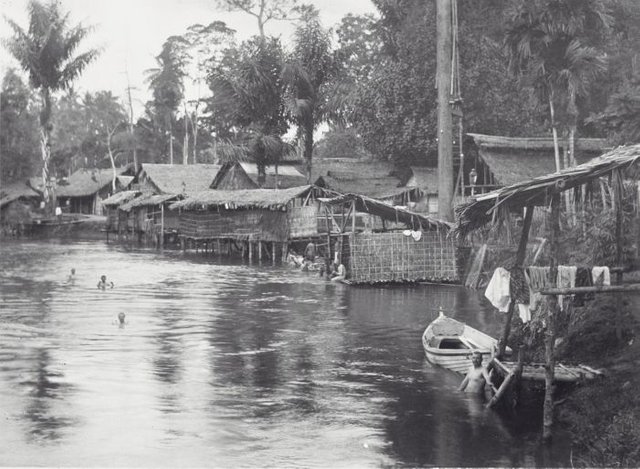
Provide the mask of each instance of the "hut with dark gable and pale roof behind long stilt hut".
[{"label": "hut with dark gable and pale roof behind long stilt hut", "polygon": [[218,171],[211,189],[288,189],[307,184],[307,178],[291,164],[269,165],[261,180],[258,165],[250,162],[225,163]]}]

